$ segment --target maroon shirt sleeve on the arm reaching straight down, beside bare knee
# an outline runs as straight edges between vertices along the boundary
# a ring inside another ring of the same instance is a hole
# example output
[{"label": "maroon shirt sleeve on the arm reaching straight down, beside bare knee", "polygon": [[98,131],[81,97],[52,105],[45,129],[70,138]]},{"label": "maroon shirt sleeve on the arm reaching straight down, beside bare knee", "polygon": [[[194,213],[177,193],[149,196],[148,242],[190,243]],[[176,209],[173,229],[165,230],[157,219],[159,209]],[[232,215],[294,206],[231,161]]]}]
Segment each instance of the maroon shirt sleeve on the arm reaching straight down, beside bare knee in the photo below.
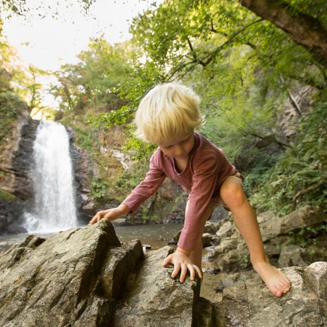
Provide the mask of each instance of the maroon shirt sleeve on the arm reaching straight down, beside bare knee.
[{"label": "maroon shirt sleeve on the arm reaching straight down, beside bare knee", "polygon": [[182,249],[194,250],[196,241],[202,235],[208,218],[204,213],[213,196],[220,166],[221,162],[212,152],[195,165],[189,209],[177,244]]}]

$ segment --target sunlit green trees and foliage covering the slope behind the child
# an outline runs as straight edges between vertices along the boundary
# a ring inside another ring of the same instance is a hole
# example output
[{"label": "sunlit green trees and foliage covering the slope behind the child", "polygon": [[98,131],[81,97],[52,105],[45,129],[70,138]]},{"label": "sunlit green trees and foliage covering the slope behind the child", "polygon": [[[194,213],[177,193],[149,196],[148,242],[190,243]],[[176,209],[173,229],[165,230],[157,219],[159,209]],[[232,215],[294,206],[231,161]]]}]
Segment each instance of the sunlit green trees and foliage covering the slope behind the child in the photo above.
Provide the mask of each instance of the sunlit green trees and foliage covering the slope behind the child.
[{"label": "sunlit green trees and foliage covering the slope behind the child", "polygon": [[[327,26],[324,1],[285,2],[294,13]],[[80,3],[88,6],[92,1]],[[2,5],[23,15],[29,8],[19,0]],[[292,203],[326,207],[325,69],[308,50],[236,0],[166,0],[155,6],[133,19],[131,41],[110,45],[104,37],[91,39],[78,63],[54,72],[58,82],[51,93],[60,103],[56,117],[75,129],[77,144],[100,169],[92,181],[96,200],[122,198],[142,180],[156,147],[134,137],[134,112],[152,85],[180,80],[200,95],[206,116],[201,132],[244,173],[245,191],[257,209],[283,215]],[[1,90],[7,97],[6,92],[14,90],[31,108],[39,107],[36,77],[45,72],[30,67],[22,73],[10,67],[12,50],[4,44]],[[12,78],[20,87],[10,88]],[[315,103],[282,125],[285,103],[299,86],[314,88]],[[15,110],[8,106],[4,111],[13,114],[8,116],[13,121]],[[119,125],[125,126],[126,138],[119,146],[137,161],[134,172],[124,172],[118,160],[103,151]],[[287,136],[289,127],[297,133]]]}]

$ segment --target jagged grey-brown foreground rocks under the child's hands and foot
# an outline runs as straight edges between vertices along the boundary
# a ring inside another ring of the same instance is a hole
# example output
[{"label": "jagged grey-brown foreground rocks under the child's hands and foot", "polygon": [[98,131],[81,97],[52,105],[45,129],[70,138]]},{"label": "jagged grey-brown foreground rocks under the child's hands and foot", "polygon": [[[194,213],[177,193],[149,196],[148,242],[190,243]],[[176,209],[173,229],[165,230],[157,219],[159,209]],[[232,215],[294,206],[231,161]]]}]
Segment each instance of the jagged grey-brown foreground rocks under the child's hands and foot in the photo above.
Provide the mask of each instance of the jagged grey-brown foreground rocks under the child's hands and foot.
[{"label": "jagged grey-brown foreground rocks under the child's hands and foot", "polygon": [[37,326],[286,327],[327,323],[327,263],[283,272],[292,287],[273,296],[260,278],[225,288],[222,301],[199,297],[199,281],[180,284],[161,267],[172,248],[143,254],[121,246],[101,220],[48,239],[33,235],[0,255],[0,324]]}]

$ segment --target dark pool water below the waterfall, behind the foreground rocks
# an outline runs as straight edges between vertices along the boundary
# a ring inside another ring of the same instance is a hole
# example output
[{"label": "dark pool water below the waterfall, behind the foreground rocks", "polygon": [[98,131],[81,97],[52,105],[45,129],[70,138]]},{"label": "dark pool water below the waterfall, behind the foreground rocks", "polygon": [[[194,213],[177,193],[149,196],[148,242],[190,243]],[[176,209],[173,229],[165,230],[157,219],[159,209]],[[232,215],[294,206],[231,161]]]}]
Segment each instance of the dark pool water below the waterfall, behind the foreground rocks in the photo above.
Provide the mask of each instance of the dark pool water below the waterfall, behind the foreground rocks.
[{"label": "dark pool water below the waterfall, behind the foreground rocks", "polygon": [[[141,240],[142,245],[150,245],[152,250],[167,245],[168,241],[182,228],[182,224],[151,224],[114,227],[119,240],[125,244],[131,240]],[[33,233],[40,237],[49,237],[51,233]],[[0,236],[0,252],[18,243],[28,234]]]}]

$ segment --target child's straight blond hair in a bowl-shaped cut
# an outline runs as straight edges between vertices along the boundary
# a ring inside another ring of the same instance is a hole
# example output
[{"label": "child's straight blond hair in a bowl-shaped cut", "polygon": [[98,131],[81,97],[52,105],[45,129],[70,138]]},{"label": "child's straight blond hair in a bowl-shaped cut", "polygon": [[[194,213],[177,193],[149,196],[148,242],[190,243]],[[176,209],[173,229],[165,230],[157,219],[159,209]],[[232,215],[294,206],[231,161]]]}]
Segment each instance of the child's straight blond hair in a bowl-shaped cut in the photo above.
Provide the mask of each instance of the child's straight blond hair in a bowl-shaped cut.
[{"label": "child's straight blond hair in a bowl-shaped cut", "polygon": [[200,98],[177,83],[153,87],[141,100],[135,114],[135,135],[143,141],[158,144],[187,133],[203,124],[199,111]]}]

